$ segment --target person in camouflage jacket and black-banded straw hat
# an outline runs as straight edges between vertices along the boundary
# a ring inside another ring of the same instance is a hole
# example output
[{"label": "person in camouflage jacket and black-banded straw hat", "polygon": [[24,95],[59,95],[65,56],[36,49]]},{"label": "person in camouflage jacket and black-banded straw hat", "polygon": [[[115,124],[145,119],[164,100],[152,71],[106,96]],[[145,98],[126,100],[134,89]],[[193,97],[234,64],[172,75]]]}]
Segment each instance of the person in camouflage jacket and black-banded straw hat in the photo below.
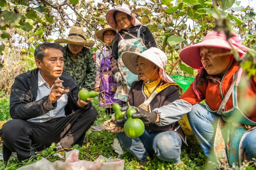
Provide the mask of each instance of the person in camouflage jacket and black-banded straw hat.
[{"label": "person in camouflage jacket and black-banded straw hat", "polygon": [[68,43],[64,47],[65,65],[63,71],[67,72],[80,88],[93,90],[96,68],[94,55],[87,47],[92,47],[94,42],[86,40],[83,29],[76,26],[70,29],[67,39],[59,38],[55,42]]}]

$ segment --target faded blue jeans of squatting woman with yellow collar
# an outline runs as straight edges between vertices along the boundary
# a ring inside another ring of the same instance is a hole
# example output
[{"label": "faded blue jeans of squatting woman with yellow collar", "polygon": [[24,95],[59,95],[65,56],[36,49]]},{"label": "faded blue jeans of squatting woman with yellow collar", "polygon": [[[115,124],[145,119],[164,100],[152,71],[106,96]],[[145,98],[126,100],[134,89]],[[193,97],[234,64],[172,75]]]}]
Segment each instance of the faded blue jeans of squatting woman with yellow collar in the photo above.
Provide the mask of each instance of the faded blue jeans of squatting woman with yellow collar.
[{"label": "faded blue jeans of squatting woman with yellow collar", "polygon": [[146,157],[156,153],[156,156],[173,164],[180,162],[180,147],[182,140],[174,131],[154,132],[144,130],[138,138],[130,138],[124,132],[116,133],[120,144],[138,161],[146,161]]}]

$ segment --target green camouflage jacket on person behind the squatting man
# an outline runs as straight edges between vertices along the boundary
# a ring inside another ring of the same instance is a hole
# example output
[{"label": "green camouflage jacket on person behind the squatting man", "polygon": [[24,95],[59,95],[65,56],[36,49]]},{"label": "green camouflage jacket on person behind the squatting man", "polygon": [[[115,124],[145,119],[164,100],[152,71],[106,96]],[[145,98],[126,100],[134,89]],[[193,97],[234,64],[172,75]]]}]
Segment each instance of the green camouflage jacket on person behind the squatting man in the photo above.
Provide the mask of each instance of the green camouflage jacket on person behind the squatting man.
[{"label": "green camouflage jacket on person behind the squatting man", "polygon": [[94,55],[89,48],[83,47],[74,60],[68,49],[68,45],[64,47],[64,69],[78,84],[80,88],[93,90],[96,76],[96,65]]}]

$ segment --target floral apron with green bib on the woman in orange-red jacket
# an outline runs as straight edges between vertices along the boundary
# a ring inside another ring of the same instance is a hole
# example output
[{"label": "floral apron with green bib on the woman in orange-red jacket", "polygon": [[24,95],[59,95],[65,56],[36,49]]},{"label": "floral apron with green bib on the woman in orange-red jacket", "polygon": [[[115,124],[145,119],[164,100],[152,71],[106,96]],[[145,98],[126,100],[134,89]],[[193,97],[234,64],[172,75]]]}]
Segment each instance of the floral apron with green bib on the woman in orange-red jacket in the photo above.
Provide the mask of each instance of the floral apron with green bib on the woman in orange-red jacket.
[{"label": "floral apron with green bib on the woman in orange-red jacket", "polygon": [[[256,130],[256,122],[248,119],[238,108],[237,85],[235,85],[237,73],[238,71],[233,76],[231,86],[221,102],[219,110],[211,110],[206,103],[207,110],[220,115],[214,138],[214,155],[220,163],[228,163],[230,166],[232,164],[242,166],[242,162],[246,159],[246,156],[243,155],[242,142],[250,132]],[[233,108],[222,111],[231,93]]]}]

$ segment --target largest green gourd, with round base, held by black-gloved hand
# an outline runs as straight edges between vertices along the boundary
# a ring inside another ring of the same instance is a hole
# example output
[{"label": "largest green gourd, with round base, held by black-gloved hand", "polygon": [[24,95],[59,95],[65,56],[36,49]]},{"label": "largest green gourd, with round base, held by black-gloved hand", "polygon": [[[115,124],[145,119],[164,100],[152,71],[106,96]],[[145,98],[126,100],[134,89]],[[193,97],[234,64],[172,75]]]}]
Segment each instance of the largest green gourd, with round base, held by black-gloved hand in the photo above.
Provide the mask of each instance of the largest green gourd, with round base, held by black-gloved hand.
[{"label": "largest green gourd, with round base, held by black-gloved hand", "polygon": [[127,120],[124,123],[124,133],[130,138],[137,138],[144,133],[145,125],[141,119],[132,118],[132,114],[136,113],[136,110],[130,106],[129,102],[127,103],[129,108],[126,110]]}]

